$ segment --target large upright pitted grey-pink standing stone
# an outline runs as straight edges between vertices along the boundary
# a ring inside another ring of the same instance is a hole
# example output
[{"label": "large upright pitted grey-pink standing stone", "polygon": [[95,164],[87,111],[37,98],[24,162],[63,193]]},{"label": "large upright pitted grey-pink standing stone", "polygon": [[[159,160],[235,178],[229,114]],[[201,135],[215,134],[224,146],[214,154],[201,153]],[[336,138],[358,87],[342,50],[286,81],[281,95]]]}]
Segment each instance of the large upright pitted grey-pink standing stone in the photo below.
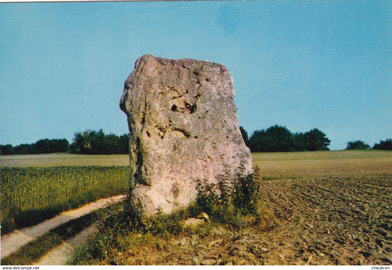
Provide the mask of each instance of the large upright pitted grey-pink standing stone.
[{"label": "large upright pitted grey-pink standing stone", "polygon": [[216,183],[240,164],[252,172],[233,98],[233,80],[219,63],[149,54],[136,61],[120,108],[130,132],[130,187],[146,214],[186,206],[197,178]]}]

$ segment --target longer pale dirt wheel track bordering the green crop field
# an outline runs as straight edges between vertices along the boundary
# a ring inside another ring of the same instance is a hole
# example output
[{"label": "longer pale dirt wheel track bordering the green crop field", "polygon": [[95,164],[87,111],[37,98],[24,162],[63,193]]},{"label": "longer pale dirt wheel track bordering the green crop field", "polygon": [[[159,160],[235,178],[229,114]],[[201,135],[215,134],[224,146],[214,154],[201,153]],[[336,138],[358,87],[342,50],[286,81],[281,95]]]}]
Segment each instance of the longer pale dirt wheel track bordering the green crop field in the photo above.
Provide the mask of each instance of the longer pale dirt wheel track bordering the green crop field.
[{"label": "longer pale dirt wheel track bordering the green crop field", "polygon": [[60,215],[55,216],[52,219],[48,219],[33,227],[14,230],[13,232],[1,236],[1,258],[10,255],[12,252],[18,250],[18,248],[21,246],[36,239],[39,236],[42,236],[58,225],[70,221],[71,219],[81,217],[98,208],[105,207],[105,205],[112,201],[119,201],[120,199],[124,198],[124,196],[125,195],[118,195],[111,198],[99,199],[98,201],[94,201],[93,203],[89,203],[78,209],[63,212]]}]

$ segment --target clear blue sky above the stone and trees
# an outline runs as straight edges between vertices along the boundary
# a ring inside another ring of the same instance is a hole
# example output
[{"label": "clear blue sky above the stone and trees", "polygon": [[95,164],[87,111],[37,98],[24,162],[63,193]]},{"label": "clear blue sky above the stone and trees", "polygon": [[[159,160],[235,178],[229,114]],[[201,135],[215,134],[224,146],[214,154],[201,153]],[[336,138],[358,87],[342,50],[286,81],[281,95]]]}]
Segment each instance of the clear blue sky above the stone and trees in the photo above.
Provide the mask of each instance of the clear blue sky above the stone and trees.
[{"label": "clear blue sky above the stone and trees", "polygon": [[209,60],[249,135],[314,127],[330,149],[392,138],[392,2],[0,5],[0,144],[128,132],[118,103],[143,54]]}]

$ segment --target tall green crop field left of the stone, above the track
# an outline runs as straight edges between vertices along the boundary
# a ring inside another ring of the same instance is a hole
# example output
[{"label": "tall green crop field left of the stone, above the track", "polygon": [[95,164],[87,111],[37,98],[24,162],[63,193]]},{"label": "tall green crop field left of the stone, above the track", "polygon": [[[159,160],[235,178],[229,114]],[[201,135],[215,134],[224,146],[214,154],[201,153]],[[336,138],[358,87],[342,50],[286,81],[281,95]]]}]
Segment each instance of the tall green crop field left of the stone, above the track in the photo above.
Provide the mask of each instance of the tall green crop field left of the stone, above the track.
[{"label": "tall green crop field left of the stone, above the track", "polygon": [[97,199],[127,194],[129,167],[2,168],[1,234]]}]

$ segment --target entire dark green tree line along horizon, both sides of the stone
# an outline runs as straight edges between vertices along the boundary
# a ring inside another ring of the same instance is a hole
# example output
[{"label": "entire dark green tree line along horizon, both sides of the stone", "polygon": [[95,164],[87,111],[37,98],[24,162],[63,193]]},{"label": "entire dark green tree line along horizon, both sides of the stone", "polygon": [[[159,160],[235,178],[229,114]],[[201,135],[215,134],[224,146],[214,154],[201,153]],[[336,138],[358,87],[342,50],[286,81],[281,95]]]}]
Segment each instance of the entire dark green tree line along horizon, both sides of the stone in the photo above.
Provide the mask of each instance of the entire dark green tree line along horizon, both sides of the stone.
[{"label": "entire dark green tree line along horizon, both sides of the stone", "polygon": [[[240,127],[242,138],[251,152],[292,152],[329,150],[330,140],[318,129],[308,132],[292,133],[286,127],[274,125],[264,130],[256,130],[250,138],[243,127]],[[105,134],[99,131],[85,130],[76,132],[73,142],[66,139],[44,139],[36,143],[12,146],[0,145],[0,155],[49,154],[70,152],[72,154],[128,154],[129,133],[121,136]],[[392,139],[380,140],[373,149],[392,150]],[[363,141],[349,141],[346,150],[370,149]]]}]

